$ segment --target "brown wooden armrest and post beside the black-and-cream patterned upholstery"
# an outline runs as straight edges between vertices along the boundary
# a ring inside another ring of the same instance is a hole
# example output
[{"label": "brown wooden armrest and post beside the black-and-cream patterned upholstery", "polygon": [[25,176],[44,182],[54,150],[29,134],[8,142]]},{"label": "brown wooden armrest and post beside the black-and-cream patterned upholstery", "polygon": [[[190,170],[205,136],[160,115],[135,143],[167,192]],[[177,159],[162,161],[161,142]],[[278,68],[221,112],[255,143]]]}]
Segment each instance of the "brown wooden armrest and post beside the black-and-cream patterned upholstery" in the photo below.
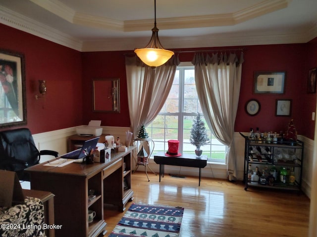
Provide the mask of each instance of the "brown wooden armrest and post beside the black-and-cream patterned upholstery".
[{"label": "brown wooden armrest and post beside the black-and-cream patterned upholstery", "polygon": [[[28,190],[23,189],[24,196],[26,197],[36,197],[39,198],[44,205],[45,223],[49,225],[54,224],[54,196],[50,192],[39,191],[39,190]],[[49,237],[54,237],[54,229],[45,230],[46,235]]]}]

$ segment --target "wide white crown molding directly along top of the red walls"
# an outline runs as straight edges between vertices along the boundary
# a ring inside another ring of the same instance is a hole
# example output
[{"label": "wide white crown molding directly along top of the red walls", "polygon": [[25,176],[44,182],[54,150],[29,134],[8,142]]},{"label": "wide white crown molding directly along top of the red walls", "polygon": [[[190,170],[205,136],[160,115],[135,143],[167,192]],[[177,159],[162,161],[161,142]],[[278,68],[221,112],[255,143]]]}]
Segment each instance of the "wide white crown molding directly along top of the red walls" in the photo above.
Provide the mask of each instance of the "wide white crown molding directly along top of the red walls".
[{"label": "wide white crown molding directly along top of the red walls", "polygon": [[[53,28],[33,21],[9,9],[0,9],[0,23],[29,34],[41,37],[60,45],[82,51],[121,51],[134,50],[143,47],[149,41],[146,38],[112,38],[106,40],[82,41],[63,34]],[[160,41],[165,48],[194,48],[194,47],[218,47],[238,45],[264,45],[284,43],[306,43],[317,37],[317,22],[301,32],[261,32],[261,33],[237,33],[214,34],[199,37],[164,38]]]}]

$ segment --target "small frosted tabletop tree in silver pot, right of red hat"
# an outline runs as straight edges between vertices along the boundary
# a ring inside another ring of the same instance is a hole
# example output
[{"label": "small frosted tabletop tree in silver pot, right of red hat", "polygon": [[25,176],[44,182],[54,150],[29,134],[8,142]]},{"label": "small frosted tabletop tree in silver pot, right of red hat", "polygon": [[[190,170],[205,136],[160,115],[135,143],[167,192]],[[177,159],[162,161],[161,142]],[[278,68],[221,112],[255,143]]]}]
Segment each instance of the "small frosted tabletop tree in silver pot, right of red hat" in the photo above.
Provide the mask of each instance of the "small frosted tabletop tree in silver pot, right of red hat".
[{"label": "small frosted tabletop tree in silver pot, right of red hat", "polygon": [[203,151],[200,148],[209,142],[210,139],[208,138],[205,123],[198,113],[193,120],[193,127],[190,131],[190,143],[196,147],[195,154],[201,156]]}]

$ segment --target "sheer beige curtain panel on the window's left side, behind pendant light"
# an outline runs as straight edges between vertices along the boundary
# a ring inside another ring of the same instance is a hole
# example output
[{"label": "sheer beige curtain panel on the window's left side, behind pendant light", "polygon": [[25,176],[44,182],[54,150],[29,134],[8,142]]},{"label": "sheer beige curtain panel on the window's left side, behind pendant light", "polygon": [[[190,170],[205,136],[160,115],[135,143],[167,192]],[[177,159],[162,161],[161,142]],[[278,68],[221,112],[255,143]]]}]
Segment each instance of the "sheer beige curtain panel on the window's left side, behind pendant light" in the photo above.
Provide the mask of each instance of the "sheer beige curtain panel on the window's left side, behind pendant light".
[{"label": "sheer beige curtain panel on the window's left side, behind pendant light", "polygon": [[125,69],[131,130],[134,138],[142,124],[150,124],[163,107],[168,96],[178,57],[173,56],[155,69],[144,65],[137,57],[126,57]]}]

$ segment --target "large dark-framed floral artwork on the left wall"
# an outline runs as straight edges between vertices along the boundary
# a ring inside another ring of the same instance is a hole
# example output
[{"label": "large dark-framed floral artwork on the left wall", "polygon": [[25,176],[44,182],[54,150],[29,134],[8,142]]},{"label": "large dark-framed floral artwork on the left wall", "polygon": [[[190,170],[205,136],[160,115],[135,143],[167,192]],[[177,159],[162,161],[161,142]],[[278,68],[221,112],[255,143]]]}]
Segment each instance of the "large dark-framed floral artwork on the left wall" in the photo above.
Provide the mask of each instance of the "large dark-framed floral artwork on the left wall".
[{"label": "large dark-framed floral artwork on the left wall", "polygon": [[27,123],[24,67],[23,54],[0,49],[0,127]]}]

